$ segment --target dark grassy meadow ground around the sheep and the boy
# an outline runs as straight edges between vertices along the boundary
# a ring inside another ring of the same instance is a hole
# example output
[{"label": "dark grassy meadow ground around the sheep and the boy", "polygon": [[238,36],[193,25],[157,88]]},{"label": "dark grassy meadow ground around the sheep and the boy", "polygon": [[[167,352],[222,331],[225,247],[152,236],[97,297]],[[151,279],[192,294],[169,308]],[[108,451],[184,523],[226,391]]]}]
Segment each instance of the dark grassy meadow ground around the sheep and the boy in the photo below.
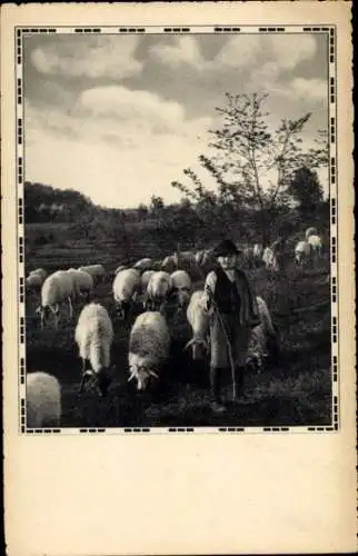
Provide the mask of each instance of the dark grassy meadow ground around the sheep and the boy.
[{"label": "dark grassy meadow ground around the sheep and the boy", "polygon": [[[326,244],[327,245],[327,244]],[[150,256],[151,246],[135,256]],[[208,407],[208,360],[193,364],[183,346],[190,339],[185,315],[168,307],[172,335],[171,356],[160,389],[139,394],[128,383],[127,355],[131,324],[141,311],[135,306],[129,322],[115,315],[112,299],[113,271],[121,260],[115,246],[83,242],[46,242],[27,259],[26,274],[36,267],[48,271],[101,262],[108,271],[105,282],[96,288],[97,299],[113,319],[112,384],[107,398],[95,390],[79,394],[81,361],[74,345],[74,327],[83,306],[74,306],[68,319],[66,308],[56,331],[52,321],[41,330],[34,310],[39,292],[26,296],[27,371],[53,374],[62,387],[62,427],[275,427],[329,426],[331,424],[330,370],[330,282],[329,254],[305,269],[288,260],[285,271],[270,275],[265,268],[248,270],[257,295],[267,301],[279,330],[280,354],[261,374],[247,375],[246,396],[231,400],[231,383],[227,377],[225,397],[228,411],[212,415]],[[193,287],[202,287],[202,277],[192,275]]]}]

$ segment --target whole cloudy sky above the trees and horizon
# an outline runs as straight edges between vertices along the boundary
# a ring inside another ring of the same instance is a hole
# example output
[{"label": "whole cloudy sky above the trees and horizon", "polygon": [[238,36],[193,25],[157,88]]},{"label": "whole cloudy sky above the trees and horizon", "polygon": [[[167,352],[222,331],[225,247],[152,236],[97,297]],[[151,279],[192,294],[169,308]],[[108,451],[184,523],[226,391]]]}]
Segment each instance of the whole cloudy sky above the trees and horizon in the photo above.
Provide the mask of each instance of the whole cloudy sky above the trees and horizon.
[{"label": "whole cloudy sky above the trees and horizon", "polygon": [[176,202],[183,168],[215,188],[197,160],[226,91],[268,92],[272,126],[311,111],[311,145],[327,128],[327,70],[322,34],[29,36],[26,179],[106,207]]}]

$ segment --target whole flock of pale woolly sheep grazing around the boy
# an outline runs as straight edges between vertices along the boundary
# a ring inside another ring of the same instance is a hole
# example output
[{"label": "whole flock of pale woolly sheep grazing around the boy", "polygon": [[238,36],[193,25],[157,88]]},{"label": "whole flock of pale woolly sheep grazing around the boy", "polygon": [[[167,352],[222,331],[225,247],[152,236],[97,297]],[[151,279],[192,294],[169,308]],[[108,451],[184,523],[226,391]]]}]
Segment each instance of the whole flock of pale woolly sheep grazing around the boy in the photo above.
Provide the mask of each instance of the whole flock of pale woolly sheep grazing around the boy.
[{"label": "whole flock of pale woolly sheep grazing around the boy", "polygon": [[[308,246],[308,247],[307,247]],[[319,252],[321,240],[315,228],[306,232],[306,240],[295,249],[298,265],[302,265],[310,250]],[[277,269],[275,246],[262,249],[259,245],[243,252],[257,261],[263,261],[268,269]],[[127,320],[135,302],[142,304],[129,334],[128,380],[136,380],[137,389],[145,390],[152,379],[160,379],[160,373],[168,361],[171,335],[166,318],[166,306],[173,301],[177,311],[186,311],[192,337],[186,345],[191,348],[192,359],[201,359],[209,349],[209,311],[203,301],[203,290],[193,291],[190,270],[196,269],[205,277],[215,265],[212,250],[178,252],[163,259],[160,269],[150,258],[140,259],[130,268],[120,266],[112,278],[112,297],[116,312]],[[155,268],[153,268],[155,267]],[[73,340],[82,360],[80,391],[95,387],[100,396],[107,396],[110,385],[111,346],[115,338],[113,324],[108,310],[96,300],[96,287],[108,279],[102,265],[91,265],[58,270],[47,276],[43,269],[33,270],[26,280],[27,288],[40,289],[41,302],[36,310],[43,329],[52,314],[58,329],[61,308],[68,305],[69,317],[73,316],[73,304],[83,301]],[[260,325],[252,330],[249,360],[258,370],[268,355],[268,339],[275,336],[270,311],[260,297],[257,298]],[[27,375],[27,426],[59,426],[61,418],[61,388],[59,381],[47,373]]]}]

